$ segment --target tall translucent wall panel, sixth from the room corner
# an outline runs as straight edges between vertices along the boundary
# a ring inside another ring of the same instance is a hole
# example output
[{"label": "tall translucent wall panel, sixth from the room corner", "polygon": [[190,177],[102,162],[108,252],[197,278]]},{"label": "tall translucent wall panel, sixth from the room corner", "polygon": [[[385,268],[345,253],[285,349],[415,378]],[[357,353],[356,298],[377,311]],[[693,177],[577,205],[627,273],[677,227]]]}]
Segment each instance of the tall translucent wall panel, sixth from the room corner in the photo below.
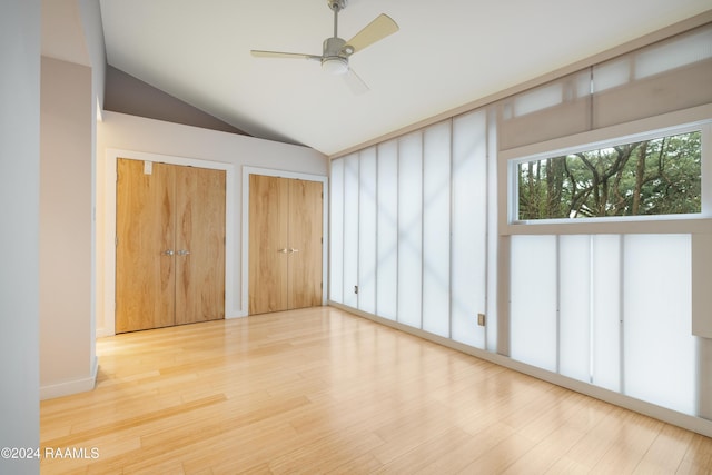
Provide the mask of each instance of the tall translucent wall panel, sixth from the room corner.
[{"label": "tall translucent wall panel, sixth from the room corner", "polygon": [[449,336],[449,121],[425,130],[423,329]]}]

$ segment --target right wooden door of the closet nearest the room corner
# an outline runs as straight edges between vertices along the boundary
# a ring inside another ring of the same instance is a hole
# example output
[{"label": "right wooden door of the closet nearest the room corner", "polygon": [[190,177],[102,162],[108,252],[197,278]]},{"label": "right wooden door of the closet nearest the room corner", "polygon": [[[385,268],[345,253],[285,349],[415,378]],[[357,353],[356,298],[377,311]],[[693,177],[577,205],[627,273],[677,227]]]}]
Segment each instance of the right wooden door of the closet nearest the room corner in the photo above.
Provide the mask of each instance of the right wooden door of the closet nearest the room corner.
[{"label": "right wooden door of the closet nearest the room corner", "polygon": [[322,305],[322,184],[289,182],[289,309]]}]

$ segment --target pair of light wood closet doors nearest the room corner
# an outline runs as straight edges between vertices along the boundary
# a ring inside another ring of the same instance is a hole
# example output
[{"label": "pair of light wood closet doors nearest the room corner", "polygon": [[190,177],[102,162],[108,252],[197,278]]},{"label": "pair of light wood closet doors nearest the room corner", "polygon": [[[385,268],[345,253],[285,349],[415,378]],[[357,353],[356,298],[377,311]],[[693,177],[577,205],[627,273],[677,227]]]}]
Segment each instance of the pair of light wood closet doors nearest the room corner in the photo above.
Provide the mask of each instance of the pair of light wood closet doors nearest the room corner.
[{"label": "pair of light wood closet doors nearest the room corner", "polygon": [[322,305],[323,186],[250,175],[249,314]]}]

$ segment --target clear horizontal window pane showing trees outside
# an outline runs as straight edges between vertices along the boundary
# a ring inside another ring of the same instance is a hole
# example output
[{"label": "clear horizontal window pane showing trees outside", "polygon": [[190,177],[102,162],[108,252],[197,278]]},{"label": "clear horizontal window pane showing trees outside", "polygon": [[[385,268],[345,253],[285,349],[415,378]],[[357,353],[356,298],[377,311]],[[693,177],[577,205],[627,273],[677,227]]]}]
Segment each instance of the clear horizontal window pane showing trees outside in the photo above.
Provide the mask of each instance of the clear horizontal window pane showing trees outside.
[{"label": "clear horizontal window pane showing trees outside", "polygon": [[517,165],[518,219],[701,212],[701,132]]}]

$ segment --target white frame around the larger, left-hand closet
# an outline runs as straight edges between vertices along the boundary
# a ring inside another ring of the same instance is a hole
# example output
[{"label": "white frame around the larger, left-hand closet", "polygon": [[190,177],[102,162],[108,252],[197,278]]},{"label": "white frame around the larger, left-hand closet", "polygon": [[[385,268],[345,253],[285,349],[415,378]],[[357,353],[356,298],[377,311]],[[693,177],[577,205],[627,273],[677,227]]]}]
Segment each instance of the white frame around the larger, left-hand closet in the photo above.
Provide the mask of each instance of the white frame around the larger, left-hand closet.
[{"label": "white frame around the larger, left-hand closet", "polygon": [[116,180],[117,161],[128,158],[186,167],[225,170],[225,319],[241,316],[235,309],[235,166],[222,161],[200,160],[135,150],[107,149],[105,182],[105,276],[103,276],[103,321],[98,337],[116,335]]}]

